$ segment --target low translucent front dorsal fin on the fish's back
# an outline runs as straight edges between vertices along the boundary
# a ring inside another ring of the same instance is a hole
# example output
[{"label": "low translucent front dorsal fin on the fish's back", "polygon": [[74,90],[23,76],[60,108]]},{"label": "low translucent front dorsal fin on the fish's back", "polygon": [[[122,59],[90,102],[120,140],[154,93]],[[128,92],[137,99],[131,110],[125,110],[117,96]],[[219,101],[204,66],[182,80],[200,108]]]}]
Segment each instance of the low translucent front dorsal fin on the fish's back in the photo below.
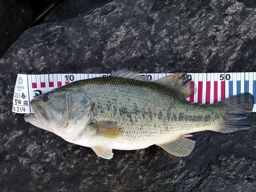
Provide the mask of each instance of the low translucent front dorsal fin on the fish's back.
[{"label": "low translucent front dorsal fin on the fish's back", "polygon": [[129,79],[136,79],[140,81],[152,81],[151,79],[148,79],[146,77],[143,77],[139,75],[139,73],[134,73],[132,71],[129,71],[127,69],[118,69],[117,71],[112,71],[110,76],[112,77],[123,77],[123,78],[129,78]]}]

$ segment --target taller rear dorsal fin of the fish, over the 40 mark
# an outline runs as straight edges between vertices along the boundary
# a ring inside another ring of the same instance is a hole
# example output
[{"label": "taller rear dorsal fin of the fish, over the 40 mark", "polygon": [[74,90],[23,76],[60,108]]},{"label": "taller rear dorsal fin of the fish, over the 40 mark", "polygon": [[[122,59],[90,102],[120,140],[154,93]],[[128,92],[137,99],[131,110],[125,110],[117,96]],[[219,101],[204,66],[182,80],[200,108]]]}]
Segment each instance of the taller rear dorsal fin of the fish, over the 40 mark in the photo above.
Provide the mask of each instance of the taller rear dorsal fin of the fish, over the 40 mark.
[{"label": "taller rear dorsal fin of the fish, over the 40 mark", "polygon": [[194,95],[197,92],[197,88],[194,86],[190,86],[190,81],[192,79],[188,78],[186,73],[174,73],[172,75],[168,75],[161,79],[156,80],[155,82],[165,84],[175,91],[179,92],[184,98],[189,97],[190,95]]}]

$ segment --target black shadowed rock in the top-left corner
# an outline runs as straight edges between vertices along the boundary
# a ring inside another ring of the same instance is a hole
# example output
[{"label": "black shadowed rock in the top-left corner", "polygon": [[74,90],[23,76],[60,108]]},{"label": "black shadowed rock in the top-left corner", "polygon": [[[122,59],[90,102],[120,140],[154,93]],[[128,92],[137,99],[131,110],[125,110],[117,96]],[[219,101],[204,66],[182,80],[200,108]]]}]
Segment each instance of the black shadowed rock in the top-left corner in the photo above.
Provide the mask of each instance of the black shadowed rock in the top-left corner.
[{"label": "black shadowed rock in the top-left corner", "polygon": [[0,1],[0,58],[32,22],[28,1]]}]

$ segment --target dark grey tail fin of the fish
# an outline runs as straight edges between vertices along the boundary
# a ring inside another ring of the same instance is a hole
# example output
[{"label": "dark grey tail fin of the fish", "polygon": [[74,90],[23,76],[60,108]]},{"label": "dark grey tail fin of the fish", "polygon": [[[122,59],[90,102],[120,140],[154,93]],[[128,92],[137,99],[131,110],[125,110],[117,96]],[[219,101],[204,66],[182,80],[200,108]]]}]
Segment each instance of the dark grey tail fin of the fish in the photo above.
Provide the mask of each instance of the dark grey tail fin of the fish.
[{"label": "dark grey tail fin of the fish", "polygon": [[238,130],[248,130],[251,122],[247,115],[252,111],[254,97],[250,93],[234,95],[220,101],[226,109],[227,116],[224,126],[219,130],[222,133],[229,133]]}]

